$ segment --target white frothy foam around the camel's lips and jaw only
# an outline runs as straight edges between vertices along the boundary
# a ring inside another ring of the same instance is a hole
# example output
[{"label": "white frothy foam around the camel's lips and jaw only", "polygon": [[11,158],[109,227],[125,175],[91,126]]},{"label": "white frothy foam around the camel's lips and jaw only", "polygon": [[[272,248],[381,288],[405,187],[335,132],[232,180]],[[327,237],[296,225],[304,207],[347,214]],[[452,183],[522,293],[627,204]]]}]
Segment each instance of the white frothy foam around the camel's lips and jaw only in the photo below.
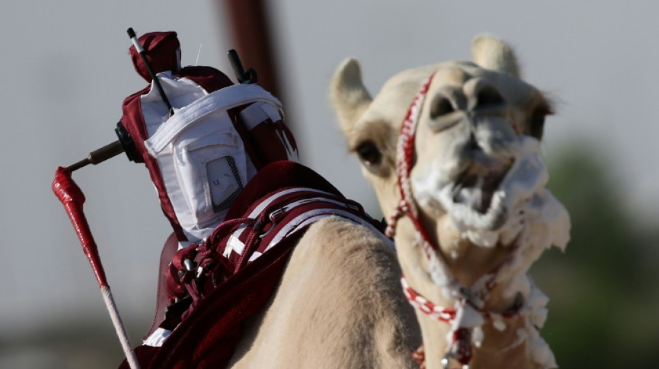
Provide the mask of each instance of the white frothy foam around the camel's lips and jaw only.
[{"label": "white frothy foam around the camel's lips and jaw only", "polygon": [[463,237],[479,246],[511,244],[529,221],[567,225],[557,224],[557,228],[563,228],[559,233],[565,235],[557,237],[557,246],[564,246],[570,221],[563,205],[545,188],[549,175],[540,160],[540,141],[519,136],[514,152],[513,165],[489,201],[483,200],[490,195],[483,193],[479,183],[456,191],[454,179],[435,168],[412,179],[415,199],[422,206],[447,213]]}]

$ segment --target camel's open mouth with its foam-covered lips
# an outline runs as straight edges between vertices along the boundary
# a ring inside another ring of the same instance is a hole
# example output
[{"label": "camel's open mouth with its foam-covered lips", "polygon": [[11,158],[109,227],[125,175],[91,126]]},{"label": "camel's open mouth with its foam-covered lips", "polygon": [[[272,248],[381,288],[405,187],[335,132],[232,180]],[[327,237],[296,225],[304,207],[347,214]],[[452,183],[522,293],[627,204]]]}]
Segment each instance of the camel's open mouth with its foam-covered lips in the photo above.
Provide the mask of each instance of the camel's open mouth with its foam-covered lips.
[{"label": "camel's open mouth with its foam-covered lips", "polygon": [[538,140],[522,136],[506,158],[473,156],[455,171],[429,165],[413,178],[414,197],[430,213],[448,215],[461,232],[489,235],[515,228],[549,179],[539,150]]}]

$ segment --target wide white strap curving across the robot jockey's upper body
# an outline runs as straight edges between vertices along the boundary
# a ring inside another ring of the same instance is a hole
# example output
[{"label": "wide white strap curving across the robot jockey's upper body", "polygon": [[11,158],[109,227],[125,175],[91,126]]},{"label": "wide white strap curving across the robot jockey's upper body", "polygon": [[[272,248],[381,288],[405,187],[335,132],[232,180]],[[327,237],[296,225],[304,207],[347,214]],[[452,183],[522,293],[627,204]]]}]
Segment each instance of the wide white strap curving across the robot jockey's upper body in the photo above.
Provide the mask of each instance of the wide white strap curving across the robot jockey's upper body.
[{"label": "wide white strap curving across the robot jockey's upper body", "polygon": [[226,111],[256,101],[267,102],[279,109],[282,108],[282,103],[277,98],[257,84],[234,84],[233,86],[209,93],[203,98],[192,102],[190,105],[177,110],[176,114],[158,127],[151,138],[144,141],[144,146],[149,154],[156,156],[185,127],[196,123],[213,111]]}]

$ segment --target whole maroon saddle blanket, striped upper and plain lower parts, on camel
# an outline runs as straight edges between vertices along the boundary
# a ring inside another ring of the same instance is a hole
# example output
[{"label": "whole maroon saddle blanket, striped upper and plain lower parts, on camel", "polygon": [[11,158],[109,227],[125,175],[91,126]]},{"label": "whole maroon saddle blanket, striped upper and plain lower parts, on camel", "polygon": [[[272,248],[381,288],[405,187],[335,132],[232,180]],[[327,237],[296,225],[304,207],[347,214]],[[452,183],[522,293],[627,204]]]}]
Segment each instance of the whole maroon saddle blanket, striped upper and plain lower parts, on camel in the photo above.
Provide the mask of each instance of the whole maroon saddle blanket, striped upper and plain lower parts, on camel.
[{"label": "whole maroon saddle blanket, striped upper and plain lower parts, on camel", "polygon": [[[241,322],[271,298],[306,229],[330,216],[381,230],[313,170],[291,161],[262,168],[206,242],[174,253],[164,273],[161,267],[159,300],[166,290],[169,306],[165,313],[159,303],[151,336],[135,349],[140,366],[225,368]],[[164,250],[163,258],[171,253]]]}]

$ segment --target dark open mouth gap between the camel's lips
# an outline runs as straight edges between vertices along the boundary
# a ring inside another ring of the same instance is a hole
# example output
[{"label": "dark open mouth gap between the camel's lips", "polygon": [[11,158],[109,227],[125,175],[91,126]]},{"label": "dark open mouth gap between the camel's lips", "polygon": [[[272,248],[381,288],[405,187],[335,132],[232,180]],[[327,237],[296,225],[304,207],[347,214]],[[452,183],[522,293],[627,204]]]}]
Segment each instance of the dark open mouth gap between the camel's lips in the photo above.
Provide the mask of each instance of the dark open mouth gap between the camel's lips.
[{"label": "dark open mouth gap between the camel's lips", "polygon": [[465,170],[452,183],[453,203],[462,204],[485,215],[492,206],[495,192],[512,166],[513,161],[493,170]]}]

